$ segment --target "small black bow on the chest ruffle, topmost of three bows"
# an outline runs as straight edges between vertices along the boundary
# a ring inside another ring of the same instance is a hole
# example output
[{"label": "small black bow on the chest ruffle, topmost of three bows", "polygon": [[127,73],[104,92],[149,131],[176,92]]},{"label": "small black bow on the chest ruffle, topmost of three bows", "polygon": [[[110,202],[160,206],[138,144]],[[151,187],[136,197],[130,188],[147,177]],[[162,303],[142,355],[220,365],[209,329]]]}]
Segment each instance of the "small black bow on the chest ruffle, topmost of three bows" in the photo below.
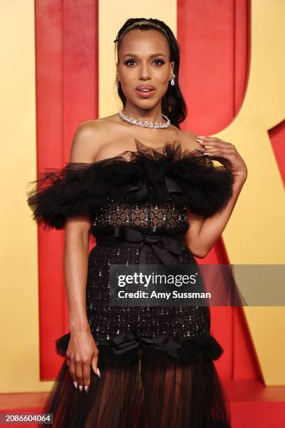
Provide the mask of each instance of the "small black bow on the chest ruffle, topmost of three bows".
[{"label": "small black bow on the chest ruffle, topmost of three bows", "polygon": [[[137,201],[142,201],[149,197],[149,192],[147,190],[147,181],[145,178],[140,176],[137,181],[133,180],[129,183],[129,192],[132,192]],[[152,183],[152,182],[151,182]],[[171,177],[165,176],[161,179],[156,179],[152,183],[157,187],[157,191],[161,197],[167,197],[167,194],[177,192],[183,193],[182,187],[180,184]]]}]

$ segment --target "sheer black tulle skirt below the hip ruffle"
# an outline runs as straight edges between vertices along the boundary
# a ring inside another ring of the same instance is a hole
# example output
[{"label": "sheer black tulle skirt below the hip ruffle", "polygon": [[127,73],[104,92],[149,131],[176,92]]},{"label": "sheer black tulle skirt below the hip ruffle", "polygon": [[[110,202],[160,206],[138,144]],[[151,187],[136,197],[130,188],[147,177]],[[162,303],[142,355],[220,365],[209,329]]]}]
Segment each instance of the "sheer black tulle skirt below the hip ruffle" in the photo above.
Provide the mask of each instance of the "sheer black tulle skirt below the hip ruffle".
[{"label": "sheer black tulle skirt below the hip ruffle", "polygon": [[101,378],[92,371],[87,393],[75,389],[64,362],[43,410],[54,414],[53,427],[231,427],[224,387],[205,350],[196,348],[187,365],[147,351],[138,350],[128,366],[104,369],[98,362]]}]

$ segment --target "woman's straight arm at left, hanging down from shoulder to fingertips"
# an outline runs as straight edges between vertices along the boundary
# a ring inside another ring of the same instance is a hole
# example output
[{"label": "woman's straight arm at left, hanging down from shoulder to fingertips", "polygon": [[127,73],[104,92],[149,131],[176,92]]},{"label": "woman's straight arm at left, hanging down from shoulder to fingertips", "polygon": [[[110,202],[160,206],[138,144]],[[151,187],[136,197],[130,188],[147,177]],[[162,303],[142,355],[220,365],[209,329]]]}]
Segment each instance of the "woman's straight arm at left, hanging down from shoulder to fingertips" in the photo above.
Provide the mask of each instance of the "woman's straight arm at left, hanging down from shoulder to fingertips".
[{"label": "woman's straight arm at left, hanging down from shoulder to fingertips", "polygon": [[[94,122],[83,122],[75,132],[70,162],[94,162],[96,157]],[[68,218],[65,222],[64,280],[68,302],[70,340],[66,364],[75,387],[88,391],[91,367],[98,371],[98,348],[87,319],[86,285],[89,256],[89,217]]]}]

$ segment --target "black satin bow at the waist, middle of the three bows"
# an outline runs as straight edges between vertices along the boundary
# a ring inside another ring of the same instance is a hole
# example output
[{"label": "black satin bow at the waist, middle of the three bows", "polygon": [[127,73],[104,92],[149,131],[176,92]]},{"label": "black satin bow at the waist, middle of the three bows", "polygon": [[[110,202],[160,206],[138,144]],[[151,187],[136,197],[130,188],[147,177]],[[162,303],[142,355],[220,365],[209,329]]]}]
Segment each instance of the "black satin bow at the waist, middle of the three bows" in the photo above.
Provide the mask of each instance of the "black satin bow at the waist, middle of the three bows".
[{"label": "black satin bow at the waist, middle of the three bows", "polygon": [[157,257],[163,264],[178,264],[178,257],[184,248],[184,241],[171,238],[170,236],[149,236],[129,227],[114,227],[115,238],[123,238],[124,241],[140,243],[141,250],[138,259],[139,264],[147,264],[147,251],[145,245],[151,245]]}]

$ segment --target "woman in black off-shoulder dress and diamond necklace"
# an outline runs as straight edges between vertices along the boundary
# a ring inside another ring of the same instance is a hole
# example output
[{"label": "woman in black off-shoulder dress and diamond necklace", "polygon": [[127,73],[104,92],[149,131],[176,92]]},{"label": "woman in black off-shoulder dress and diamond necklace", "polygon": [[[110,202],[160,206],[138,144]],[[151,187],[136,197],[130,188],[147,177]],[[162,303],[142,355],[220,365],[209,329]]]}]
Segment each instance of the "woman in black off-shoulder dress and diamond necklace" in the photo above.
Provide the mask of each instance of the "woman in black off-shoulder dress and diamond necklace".
[{"label": "woman in black off-shoulder dress and diamond necklace", "polygon": [[196,264],[247,167],[233,144],[180,129],[180,52],[164,22],[129,19],[115,43],[123,109],[80,124],[69,164],[28,197],[38,224],[66,240],[66,358],[43,411],[61,428],[231,427],[209,308],[112,306],[110,265]]}]

